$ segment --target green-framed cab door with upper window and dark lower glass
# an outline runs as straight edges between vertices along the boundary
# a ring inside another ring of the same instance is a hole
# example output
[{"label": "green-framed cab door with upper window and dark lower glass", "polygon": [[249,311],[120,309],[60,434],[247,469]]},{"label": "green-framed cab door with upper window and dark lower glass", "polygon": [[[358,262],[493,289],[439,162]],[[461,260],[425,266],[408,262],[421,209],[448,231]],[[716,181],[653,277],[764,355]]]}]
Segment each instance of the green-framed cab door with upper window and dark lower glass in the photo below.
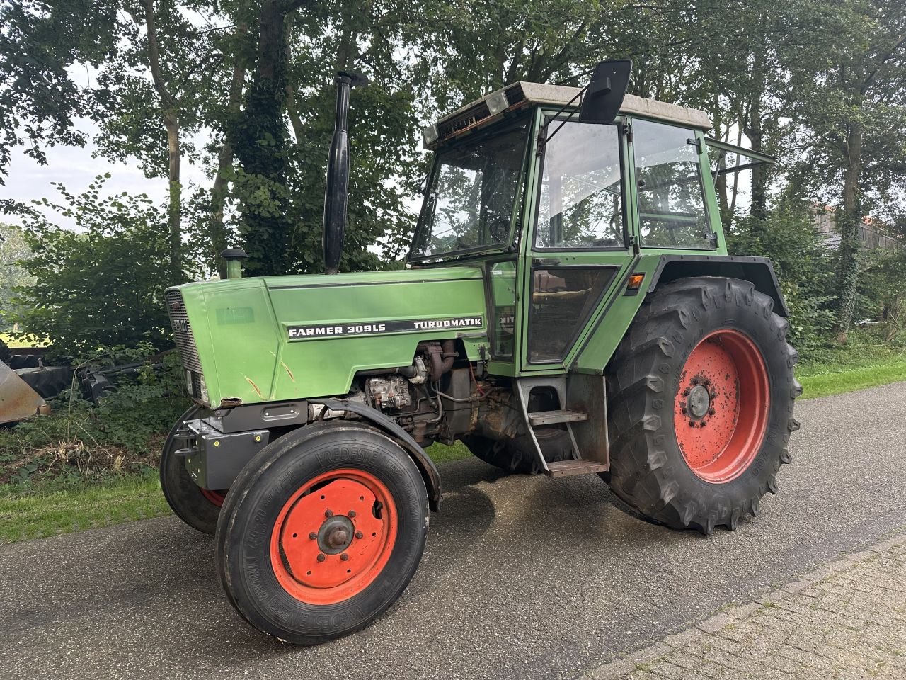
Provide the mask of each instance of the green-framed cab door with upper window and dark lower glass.
[{"label": "green-framed cab door with upper window and dark lower glass", "polygon": [[564,373],[625,288],[638,233],[627,210],[624,121],[546,117],[520,256],[522,373]]}]

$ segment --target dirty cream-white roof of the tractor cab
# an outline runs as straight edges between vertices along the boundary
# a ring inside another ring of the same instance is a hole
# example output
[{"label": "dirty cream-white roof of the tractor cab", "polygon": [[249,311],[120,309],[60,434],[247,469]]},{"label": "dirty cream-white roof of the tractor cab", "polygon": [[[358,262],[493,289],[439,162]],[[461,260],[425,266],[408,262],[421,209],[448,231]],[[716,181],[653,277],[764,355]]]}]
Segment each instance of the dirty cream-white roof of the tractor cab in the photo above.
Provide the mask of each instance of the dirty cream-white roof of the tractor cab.
[{"label": "dirty cream-white roof of the tractor cab", "polygon": [[[564,85],[546,85],[544,83],[525,83],[520,81],[506,85],[499,90],[487,93],[481,99],[458,108],[441,118],[434,125],[425,128],[422,133],[425,148],[437,149],[442,143],[458,139],[467,132],[496,121],[504,112],[517,111],[527,106],[548,105],[564,107],[573,101],[582,88]],[[578,106],[578,100],[574,102]],[[708,114],[699,109],[644,99],[634,94],[627,94],[620,107],[621,113],[640,115],[659,121],[686,125],[690,128],[708,131],[711,120]]]}]

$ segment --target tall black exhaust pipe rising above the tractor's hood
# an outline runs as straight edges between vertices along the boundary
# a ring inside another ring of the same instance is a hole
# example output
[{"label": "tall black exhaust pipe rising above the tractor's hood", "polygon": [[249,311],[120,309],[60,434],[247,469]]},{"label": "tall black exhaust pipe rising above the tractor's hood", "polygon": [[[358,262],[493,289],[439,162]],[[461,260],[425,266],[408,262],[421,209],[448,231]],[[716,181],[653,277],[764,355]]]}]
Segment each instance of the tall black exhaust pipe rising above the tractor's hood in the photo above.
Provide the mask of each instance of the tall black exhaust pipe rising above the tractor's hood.
[{"label": "tall black exhaust pipe rising above the tractor's hood", "polygon": [[327,186],[324,188],[323,253],[324,274],[336,274],[342,255],[343,231],[346,228],[346,198],[349,195],[349,93],[352,87],[367,85],[368,78],[355,71],[341,71],[336,76],[337,112],[333,141],[327,157]]}]

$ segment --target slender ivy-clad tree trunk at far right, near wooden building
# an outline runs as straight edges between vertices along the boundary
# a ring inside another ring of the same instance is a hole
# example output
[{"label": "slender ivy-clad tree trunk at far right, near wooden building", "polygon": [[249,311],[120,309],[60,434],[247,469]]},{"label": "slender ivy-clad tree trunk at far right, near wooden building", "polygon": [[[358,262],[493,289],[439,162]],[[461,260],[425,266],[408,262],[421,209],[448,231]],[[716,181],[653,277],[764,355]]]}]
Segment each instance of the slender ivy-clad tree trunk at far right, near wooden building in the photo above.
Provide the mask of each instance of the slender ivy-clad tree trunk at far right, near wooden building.
[{"label": "slender ivy-clad tree trunk at far right, near wooden building", "polygon": [[862,200],[859,174],[862,170],[862,123],[853,121],[846,138],[843,175],[843,213],[839,215],[840,259],[837,267],[837,342],[845,344],[853,323],[856,287],[859,283],[859,226],[862,224]]}]

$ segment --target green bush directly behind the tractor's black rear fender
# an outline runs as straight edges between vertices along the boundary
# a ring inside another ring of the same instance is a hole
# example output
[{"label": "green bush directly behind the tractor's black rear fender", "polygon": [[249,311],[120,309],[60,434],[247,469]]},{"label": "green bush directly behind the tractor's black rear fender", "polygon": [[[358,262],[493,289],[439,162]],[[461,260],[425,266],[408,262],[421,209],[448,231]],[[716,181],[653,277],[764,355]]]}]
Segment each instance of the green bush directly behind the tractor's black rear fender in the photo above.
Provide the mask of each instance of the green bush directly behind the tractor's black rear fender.
[{"label": "green bush directly behind the tractor's black rear fender", "polygon": [[832,255],[810,218],[747,218],[728,234],[731,255],[770,257],[789,309],[790,342],[802,355],[826,344],[834,325]]}]

